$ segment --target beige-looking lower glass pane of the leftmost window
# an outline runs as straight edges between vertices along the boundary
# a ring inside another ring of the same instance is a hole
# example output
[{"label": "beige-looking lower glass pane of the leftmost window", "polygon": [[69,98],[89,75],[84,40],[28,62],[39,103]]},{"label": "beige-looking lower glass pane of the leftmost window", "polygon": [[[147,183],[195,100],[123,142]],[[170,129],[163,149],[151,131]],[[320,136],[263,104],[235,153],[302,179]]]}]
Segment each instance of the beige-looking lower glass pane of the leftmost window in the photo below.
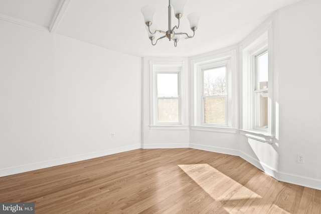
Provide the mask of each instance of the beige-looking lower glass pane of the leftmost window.
[{"label": "beige-looking lower glass pane of the leftmost window", "polygon": [[157,99],[158,122],[179,122],[179,99]]}]

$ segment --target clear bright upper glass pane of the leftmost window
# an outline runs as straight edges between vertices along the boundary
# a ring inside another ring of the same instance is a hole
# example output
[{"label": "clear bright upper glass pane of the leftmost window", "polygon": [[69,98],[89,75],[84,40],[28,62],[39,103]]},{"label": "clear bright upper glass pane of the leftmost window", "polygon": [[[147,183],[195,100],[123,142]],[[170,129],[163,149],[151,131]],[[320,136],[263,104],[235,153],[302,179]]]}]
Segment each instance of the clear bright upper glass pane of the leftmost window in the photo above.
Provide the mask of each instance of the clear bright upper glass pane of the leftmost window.
[{"label": "clear bright upper glass pane of the leftmost window", "polygon": [[178,74],[157,74],[157,96],[178,97]]}]

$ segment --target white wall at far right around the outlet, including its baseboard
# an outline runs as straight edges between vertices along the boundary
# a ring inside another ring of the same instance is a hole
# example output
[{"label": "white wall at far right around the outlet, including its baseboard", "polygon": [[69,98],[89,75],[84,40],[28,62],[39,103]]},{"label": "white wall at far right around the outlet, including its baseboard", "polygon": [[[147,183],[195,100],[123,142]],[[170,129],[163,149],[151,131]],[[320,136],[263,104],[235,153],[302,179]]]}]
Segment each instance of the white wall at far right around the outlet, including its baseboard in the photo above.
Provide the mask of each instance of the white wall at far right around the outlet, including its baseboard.
[{"label": "white wall at far right around the outlet, including its baseboard", "polygon": [[[321,1],[279,11],[279,178],[321,189]],[[296,155],[305,163],[296,163]]]}]

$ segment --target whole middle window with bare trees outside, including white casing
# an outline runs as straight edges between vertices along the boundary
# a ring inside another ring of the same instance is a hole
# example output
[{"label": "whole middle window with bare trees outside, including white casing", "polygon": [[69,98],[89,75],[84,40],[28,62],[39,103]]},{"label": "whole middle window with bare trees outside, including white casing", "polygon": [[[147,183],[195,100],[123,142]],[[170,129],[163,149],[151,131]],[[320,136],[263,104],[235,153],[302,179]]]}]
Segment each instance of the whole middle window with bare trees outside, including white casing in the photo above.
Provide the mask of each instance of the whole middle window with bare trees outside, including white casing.
[{"label": "whole middle window with bare trees outside, including white casing", "polygon": [[192,129],[235,133],[236,50],[195,58],[192,65]]}]

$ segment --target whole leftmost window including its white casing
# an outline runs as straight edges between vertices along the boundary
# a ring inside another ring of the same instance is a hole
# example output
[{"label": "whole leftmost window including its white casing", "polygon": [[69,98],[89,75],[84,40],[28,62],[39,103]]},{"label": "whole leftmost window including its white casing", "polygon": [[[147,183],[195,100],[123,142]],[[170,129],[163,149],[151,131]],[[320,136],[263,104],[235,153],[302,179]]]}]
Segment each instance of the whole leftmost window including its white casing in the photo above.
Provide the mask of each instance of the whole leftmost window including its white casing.
[{"label": "whole leftmost window including its white casing", "polygon": [[151,129],[187,129],[185,61],[149,61]]}]

